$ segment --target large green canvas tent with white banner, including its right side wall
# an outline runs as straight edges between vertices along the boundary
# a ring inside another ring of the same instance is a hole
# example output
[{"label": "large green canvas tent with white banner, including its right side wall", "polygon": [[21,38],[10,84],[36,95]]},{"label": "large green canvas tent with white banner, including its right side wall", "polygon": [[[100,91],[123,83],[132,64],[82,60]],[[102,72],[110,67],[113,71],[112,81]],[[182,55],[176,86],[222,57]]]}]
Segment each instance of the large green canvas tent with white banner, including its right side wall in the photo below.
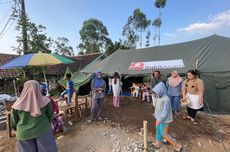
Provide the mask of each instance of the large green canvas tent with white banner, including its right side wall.
[{"label": "large green canvas tent with white banner, including its right side wall", "polygon": [[[201,79],[205,82],[205,98],[212,110],[229,112],[229,58],[230,38],[212,35],[178,44],[134,50],[117,50],[106,59],[89,66],[82,72],[93,73],[100,70],[106,74],[117,71],[122,75],[139,75],[152,73],[153,70],[160,70],[162,73],[170,73],[172,70],[186,73],[190,69],[198,69]],[[139,67],[131,68],[136,63]],[[156,66],[160,63],[166,65]],[[175,66],[169,65],[171,63]]]}]

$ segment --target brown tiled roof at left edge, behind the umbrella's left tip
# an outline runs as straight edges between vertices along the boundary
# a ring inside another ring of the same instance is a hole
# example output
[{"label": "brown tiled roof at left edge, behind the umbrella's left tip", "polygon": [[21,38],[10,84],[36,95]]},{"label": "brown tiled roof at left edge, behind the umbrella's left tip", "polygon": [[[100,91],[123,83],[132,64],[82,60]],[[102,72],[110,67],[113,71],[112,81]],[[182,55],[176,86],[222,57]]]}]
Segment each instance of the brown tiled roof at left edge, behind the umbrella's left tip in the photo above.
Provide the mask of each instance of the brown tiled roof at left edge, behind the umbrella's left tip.
[{"label": "brown tiled roof at left edge, behind the umbrella's left tip", "polygon": [[[17,56],[18,55],[0,53],[0,66],[6,64],[7,62],[11,61]],[[0,79],[17,78],[21,74],[22,73],[16,69],[7,69],[7,70],[0,69]]]}]

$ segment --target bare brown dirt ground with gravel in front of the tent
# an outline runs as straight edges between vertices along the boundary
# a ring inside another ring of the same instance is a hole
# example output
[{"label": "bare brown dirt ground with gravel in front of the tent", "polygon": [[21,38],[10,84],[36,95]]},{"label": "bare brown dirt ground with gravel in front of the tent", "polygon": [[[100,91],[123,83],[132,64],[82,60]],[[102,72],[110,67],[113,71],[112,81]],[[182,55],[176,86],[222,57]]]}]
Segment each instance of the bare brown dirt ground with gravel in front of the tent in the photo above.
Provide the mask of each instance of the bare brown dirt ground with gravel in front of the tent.
[{"label": "bare brown dirt ground with gravel in front of the tent", "polygon": [[[121,108],[112,106],[112,98],[105,101],[104,117],[101,122],[87,123],[87,118],[74,121],[71,129],[57,136],[60,152],[141,152],[143,151],[143,136],[141,128],[143,120],[148,121],[149,151],[171,152],[170,145],[162,144],[155,150],[152,147],[155,127],[152,104],[137,99],[124,97]],[[224,152],[230,151],[230,116],[206,113],[198,114],[199,126],[183,120],[185,110],[174,116],[170,126],[170,134],[182,144],[184,152]],[[223,141],[221,143],[220,139]],[[0,152],[15,151],[15,138],[8,139],[6,131],[0,132]]]}]

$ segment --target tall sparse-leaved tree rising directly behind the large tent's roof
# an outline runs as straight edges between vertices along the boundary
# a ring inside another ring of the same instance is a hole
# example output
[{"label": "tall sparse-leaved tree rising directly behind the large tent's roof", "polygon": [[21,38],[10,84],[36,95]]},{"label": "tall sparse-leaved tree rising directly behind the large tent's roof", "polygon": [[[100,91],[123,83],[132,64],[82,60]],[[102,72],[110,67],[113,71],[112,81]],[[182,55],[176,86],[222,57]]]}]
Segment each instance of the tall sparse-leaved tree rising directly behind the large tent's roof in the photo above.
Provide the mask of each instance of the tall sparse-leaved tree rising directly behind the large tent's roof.
[{"label": "tall sparse-leaved tree rising directly behind the large tent's roof", "polygon": [[139,41],[140,47],[142,47],[142,33],[150,23],[151,21],[147,19],[140,9],[135,9],[132,16],[128,17],[128,22],[123,28],[122,34],[126,37],[125,42],[130,43],[131,47],[136,47],[136,43]]}]

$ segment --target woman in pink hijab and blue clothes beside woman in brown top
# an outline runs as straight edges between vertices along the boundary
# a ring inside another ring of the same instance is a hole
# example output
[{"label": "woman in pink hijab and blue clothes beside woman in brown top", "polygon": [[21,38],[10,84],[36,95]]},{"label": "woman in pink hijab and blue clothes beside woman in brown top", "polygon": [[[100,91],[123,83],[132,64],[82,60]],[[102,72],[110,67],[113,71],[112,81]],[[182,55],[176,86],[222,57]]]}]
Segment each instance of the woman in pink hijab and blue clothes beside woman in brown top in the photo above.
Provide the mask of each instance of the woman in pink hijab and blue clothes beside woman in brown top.
[{"label": "woman in pink hijab and blue clothes beside woman in brown top", "polygon": [[171,76],[166,83],[167,94],[171,101],[172,111],[176,114],[179,109],[180,95],[183,79],[177,71],[172,71]]}]

